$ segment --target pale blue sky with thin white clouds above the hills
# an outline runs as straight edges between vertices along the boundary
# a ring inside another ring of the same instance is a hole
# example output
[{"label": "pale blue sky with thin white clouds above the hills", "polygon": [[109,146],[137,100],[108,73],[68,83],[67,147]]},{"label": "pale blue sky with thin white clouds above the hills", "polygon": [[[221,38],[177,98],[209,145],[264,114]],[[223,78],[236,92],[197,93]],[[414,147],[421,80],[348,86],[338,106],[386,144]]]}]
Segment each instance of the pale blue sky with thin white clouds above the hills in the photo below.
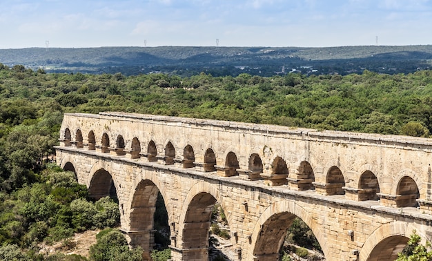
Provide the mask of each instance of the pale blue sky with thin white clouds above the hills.
[{"label": "pale blue sky with thin white clouds above the hills", "polygon": [[432,44],[432,0],[0,0],[0,49]]}]

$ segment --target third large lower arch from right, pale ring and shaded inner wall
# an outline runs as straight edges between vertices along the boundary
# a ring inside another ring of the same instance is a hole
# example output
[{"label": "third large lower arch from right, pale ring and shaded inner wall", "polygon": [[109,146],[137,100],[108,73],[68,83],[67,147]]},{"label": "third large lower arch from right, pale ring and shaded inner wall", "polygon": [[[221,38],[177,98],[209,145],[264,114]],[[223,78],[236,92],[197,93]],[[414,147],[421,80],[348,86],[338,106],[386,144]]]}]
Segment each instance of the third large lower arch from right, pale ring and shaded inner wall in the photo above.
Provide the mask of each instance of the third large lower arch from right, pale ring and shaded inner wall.
[{"label": "third large lower arch from right, pale ring and shaded inner wall", "polygon": [[210,215],[216,202],[219,202],[224,213],[226,213],[228,225],[232,224],[230,211],[226,209],[219,190],[213,185],[199,182],[186,195],[179,216],[180,227],[177,240],[181,240],[181,245],[177,245],[177,240],[172,242],[172,245],[182,249],[194,249],[195,251],[192,253],[183,251],[182,260],[208,260]]}]

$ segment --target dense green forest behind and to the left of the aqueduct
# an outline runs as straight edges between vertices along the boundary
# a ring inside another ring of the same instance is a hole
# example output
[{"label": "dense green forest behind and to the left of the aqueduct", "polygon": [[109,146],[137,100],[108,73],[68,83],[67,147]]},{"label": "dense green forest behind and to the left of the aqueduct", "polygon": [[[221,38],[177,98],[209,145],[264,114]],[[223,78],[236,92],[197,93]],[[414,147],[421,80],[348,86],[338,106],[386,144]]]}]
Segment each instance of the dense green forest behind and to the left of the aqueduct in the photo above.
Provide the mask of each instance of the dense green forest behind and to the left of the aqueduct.
[{"label": "dense green forest behind and to the left of the aqueduct", "polygon": [[[94,202],[73,173],[50,163],[63,113],[101,111],[429,137],[432,71],[126,77],[0,64],[1,260],[86,260],[41,254],[39,244],[60,241],[67,248],[75,232],[118,225],[115,199]],[[119,231],[98,237],[90,260],[139,260],[140,249],[129,250]]]}]

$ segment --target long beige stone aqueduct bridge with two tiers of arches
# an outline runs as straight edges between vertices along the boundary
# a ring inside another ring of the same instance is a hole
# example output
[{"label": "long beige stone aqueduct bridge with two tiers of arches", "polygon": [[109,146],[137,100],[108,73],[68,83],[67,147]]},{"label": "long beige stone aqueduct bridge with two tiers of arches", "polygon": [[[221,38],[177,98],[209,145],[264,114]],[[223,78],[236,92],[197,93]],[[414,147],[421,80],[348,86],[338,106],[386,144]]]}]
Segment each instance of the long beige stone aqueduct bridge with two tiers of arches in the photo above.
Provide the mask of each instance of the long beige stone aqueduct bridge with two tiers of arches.
[{"label": "long beige stone aqueduct bridge with two tiers of arches", "polygon": [[208,260],[210,213],[235,260],[278,260],[301,218],[326,260],[394,260],[432,237],[432,141],[127,113],[66,114],[57,164],[92,197],[117,195],[121,230],[146,258],[164,197],[173,260]]}]

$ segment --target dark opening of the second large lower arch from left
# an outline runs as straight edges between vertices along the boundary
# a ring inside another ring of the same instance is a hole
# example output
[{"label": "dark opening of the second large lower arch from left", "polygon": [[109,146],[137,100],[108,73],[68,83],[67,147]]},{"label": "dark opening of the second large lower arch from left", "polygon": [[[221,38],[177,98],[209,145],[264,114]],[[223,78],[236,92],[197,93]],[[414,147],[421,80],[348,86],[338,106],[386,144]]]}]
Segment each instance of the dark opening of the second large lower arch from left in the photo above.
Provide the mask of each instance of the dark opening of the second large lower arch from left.
[{"label": "dark opening of the second large lower arch from left", "polygon": [[111,197],[116,203],[119,202],[114,180],[112,180],[111,174],[104,170],[104,168],[99,169],[93,175],[88,187],[88,193],[93,200],[100,200],[102,197]]}]

